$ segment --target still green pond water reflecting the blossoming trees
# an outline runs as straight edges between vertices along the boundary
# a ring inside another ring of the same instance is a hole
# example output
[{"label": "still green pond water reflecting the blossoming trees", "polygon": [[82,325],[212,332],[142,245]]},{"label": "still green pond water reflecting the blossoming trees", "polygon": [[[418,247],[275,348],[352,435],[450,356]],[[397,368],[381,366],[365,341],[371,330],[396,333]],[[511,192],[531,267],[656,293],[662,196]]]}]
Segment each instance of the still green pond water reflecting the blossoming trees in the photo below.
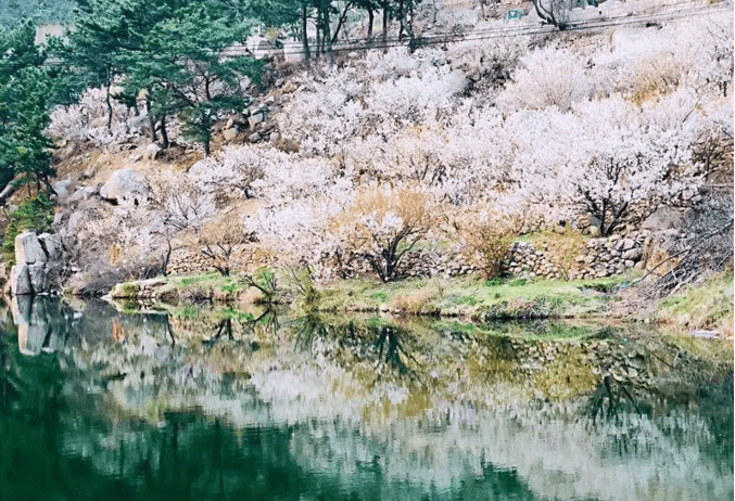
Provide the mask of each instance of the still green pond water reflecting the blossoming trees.
[{"label": "still green pond water reflecting the blossoming trees", "polygon": [[733,499],[710,345],[78,308],[0,331],[1,501]]}]

